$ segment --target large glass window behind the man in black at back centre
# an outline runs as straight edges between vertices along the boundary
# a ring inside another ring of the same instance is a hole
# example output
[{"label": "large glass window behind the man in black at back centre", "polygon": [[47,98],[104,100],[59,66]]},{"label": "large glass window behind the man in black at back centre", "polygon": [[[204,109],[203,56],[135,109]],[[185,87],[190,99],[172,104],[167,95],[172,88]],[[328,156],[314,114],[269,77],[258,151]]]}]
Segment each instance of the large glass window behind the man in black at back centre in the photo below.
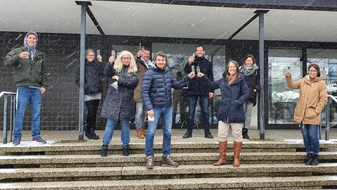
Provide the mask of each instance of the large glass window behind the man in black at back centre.
[{"label": "large glass window behind the man in black at back centre", "polygon": [[[185,65],[188,61],[188,57],[192,56],[195,52],[195,46],[197,44],[166,44],[166,43],[152,43],[152,57],[158,51],[164,51],[169,61],[169,68],[172,71],[174,77],[179,78],[178,75],[181,73],[185,77],[187,74],[184,72]],[[205,58],[207,58],[211,63],[213,63],[213,75],[214,80],[220,79],[222,77],[223,72],[225,71],[225,46],[219,45],[204,45],[206,54]],[[177,75],[178,74],[178,75]],[[173,121],[176,123],[183,122],[187,118],[188,113],[188,103],[186,97],[187,90],[174,90],[173,91]],[[216,120],[216,111],[218,110],[218,105],[220,102],[220,91],[215,91],[215,97],[213,98],[213,122],[217,122]],[[183,99],[183,101],[181,101]],[[183,106],[180,106],[180,103]],[[178,106],[176,105],[178,104]],[[180,108],[185,107],[185,108]],[[212,115],[211,106],[210,116]],[[185,118],[183,113],[185,110]],[[197,105],[197,110],[195,114],[195,122],[200,123],[200,107],[199,103]],[[211,118],[211,117],[210,117]],[[210,120],[211,122],[211,120]]]}]

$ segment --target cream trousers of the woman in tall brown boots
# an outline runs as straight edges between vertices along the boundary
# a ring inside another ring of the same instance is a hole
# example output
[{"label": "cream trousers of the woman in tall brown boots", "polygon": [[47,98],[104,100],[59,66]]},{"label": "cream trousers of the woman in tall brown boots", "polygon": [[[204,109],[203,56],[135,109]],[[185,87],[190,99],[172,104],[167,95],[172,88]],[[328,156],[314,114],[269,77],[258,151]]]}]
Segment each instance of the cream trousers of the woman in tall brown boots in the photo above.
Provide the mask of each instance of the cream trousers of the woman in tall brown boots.
[{"label": "cream trousers of the woman in tall brown boots", "polygon": [[232,136],[234,141],[242,142],[242,125],[243,123],[225,123],[219,121],[218,125],[218,138],[219,141],[227,141],[228,133],[232,128]]}]

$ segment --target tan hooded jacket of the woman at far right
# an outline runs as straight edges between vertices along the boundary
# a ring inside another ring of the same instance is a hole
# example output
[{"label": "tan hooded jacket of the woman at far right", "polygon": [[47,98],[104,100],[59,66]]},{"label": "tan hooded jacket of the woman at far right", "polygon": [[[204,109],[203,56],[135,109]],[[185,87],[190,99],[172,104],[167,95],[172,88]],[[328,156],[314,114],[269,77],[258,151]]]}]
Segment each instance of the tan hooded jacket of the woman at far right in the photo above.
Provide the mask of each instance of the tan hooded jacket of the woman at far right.
[{"label": "tan hooded jacket of the woman at far right", "polygon": [[326,84],[322,76],[310,81],[310,76],[306,75],[296,82],[293,82],[291,77],[286,77],[286,85],[290,89],[300,89],[293,120],[303,124],[319,125],[320,113],[328,101]]}]

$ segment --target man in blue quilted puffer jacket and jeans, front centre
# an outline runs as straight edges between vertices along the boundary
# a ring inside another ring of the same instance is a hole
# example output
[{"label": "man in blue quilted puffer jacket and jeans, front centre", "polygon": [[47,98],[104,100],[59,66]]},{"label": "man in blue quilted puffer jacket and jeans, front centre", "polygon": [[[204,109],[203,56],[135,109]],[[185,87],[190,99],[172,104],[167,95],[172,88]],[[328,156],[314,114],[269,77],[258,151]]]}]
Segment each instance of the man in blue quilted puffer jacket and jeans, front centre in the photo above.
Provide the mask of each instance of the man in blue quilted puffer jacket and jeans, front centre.
[{"label": "man in blue quilted puffer jacket and jeans, front centre", "polygon": [[[152,169],[154,162],[153,141],[157,124],[163,115],[163,159],[162,166],[178,167],[171,158],[171,127],[172,127],[172,94],[171,88],[181,89],[188,83],[187,77],[179,82],[174,79],[169,68],[166,68],[167,58],[164,52],[158,52],[154,57],[154,67],[145,72],[141,95],[149,118],[145,139],[146,168]],[[190,72],[188,77],[194,77]]]}]

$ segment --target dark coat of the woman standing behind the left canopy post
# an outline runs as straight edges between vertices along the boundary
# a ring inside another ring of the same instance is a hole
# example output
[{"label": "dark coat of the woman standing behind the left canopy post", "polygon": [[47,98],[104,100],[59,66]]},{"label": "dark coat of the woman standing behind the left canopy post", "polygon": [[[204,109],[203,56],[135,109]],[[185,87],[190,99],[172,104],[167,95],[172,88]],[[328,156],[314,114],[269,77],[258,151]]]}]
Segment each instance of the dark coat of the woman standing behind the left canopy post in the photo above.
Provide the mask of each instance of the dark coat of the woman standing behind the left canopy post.
[{"label": "dark coat of the woman standing behind the left canopy post", "polygon": [[[104,64],[98,61],[84,64],[84,94],[97,94],[103,91],[102,79]],[[79,87],[79,67],[76,70],[76,84]]]}]

